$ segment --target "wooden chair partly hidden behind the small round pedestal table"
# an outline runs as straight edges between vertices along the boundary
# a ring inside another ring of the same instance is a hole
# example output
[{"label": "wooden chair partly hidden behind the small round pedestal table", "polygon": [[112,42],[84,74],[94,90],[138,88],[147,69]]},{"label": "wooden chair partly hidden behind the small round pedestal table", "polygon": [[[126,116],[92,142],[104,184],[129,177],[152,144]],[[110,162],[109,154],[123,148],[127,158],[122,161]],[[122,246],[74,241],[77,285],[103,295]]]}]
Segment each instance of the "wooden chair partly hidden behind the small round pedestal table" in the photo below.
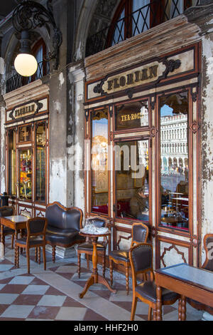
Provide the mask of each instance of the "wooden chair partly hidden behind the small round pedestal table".
[{"label": "wooden chair partly hidden behind the small round pedestal table", "polygon": [[[106,220],[101,219],[99,217],[92,217],[88,219],[89,221],[94,222],[95,227],[105,227],[106,226]],[[97,243],[97,253],[98,256],[102,257],[102,275],[105,277],[105,259],[106,259],[106,249],[107,249],[107,237],[104,237],[103,242]],[[80,278],[80,264],[81,264],[81,254],[86,254],[87,259],[87,269],[89,270],[89,256],[92,256],[93,252],[93,244],[90,239],[88,239],[86,242],[80,244],[77,247],[77,273],[78,277]]]}]

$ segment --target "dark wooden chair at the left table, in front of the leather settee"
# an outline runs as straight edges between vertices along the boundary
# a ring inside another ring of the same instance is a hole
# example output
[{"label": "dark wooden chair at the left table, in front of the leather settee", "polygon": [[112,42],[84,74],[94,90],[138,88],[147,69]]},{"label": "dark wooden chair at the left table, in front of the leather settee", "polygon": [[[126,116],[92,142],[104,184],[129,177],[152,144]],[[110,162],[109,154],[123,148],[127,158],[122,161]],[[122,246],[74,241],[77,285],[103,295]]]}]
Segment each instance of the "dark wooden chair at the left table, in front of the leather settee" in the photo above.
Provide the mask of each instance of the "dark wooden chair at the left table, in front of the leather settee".
[{"label": "dark wooden chair at the left table, in front of the leather settee", "polygon": [[[35,248],[35,255],[37,255],[37,249],[43,248],[43,265],[46,269],[46,257],[45,257],[45,232],[47,229],[48,220],[45,217],[34,217],[29,219],[26,224],[27,237],[16,239],[16,267],[19,267],[19,248],[26,249],[26,257],[28,263],[28,273],[30,273],[30,249]],[[40,250],[40,249],[39,249]],[[39,252],[40,259],[40,252]]]}]

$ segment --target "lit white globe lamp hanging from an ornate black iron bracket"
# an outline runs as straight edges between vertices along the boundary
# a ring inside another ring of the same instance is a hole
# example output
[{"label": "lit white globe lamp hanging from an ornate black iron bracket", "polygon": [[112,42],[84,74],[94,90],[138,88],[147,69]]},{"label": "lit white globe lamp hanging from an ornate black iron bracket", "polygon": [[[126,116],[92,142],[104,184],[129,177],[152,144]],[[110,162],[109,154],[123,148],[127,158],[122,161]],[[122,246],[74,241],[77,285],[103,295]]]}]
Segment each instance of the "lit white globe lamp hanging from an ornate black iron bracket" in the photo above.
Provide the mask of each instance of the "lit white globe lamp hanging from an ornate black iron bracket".
[{"label": "lit white globe lamp hanging from an ornate black iron bracket", "polygon": [[57,70],[62,33],[55,24],[53,10],[50,5],[52,0],[47,1],[47,9],[35,1],[17,0],[16,2],[18,2],[18,6],[13,11],[12,22],[16,37],[21,41],[21,48],[14,61],[16,71],[21,76],[26,77],[33,76],[37,71],[38,63],[31,54],[31,31],[46,24],[50,24],[53,27],[53,52],[48,53],[45,61],[55,59],[53,68]]}]

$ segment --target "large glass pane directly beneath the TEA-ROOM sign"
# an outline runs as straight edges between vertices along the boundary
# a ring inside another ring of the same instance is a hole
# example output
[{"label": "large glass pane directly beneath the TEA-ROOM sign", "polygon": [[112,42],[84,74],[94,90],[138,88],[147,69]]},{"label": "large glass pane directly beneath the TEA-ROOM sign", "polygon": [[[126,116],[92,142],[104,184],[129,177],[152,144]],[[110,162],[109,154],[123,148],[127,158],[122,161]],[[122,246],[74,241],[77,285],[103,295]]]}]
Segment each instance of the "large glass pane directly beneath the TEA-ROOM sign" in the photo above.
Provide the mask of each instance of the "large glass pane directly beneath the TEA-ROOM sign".
[{"label": "large glass pane directly beneath the TEA-ROOM sign", "polygon": [[115,145],[116,217],[148,222],[148,140]]}]

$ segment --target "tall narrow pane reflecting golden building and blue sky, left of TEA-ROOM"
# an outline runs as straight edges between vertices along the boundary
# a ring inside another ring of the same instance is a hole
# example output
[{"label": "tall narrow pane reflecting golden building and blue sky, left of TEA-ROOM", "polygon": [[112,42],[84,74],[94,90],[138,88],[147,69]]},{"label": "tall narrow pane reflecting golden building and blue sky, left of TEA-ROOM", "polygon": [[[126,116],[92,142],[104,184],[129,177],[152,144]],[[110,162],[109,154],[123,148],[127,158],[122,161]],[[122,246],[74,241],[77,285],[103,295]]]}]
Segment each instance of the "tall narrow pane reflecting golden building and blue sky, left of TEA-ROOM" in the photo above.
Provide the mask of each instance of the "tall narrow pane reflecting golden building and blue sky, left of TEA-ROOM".
[{"label": "tall narrow pane reflecting golden building and blue sky, left of TEA-ROOM", "polygon": [[92,113],[92,212],[108,215],[108,111]]}]

